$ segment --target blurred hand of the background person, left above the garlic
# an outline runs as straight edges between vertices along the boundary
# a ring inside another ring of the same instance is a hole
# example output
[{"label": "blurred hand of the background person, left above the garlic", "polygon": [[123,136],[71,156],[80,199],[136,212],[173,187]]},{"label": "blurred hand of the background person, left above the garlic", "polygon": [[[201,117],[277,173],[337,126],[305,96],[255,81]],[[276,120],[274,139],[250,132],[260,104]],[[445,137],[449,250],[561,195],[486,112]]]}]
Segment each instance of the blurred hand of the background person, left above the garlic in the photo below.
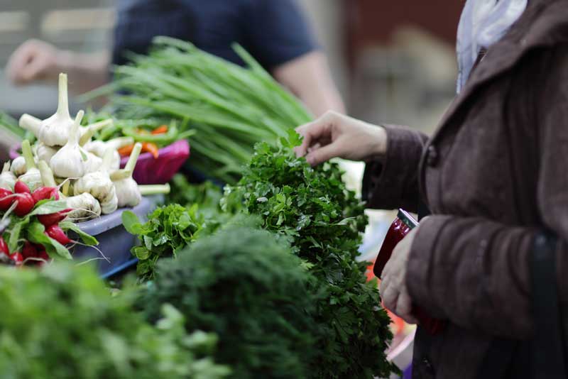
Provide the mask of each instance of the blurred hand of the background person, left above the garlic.
[{"label": "blurred hand of the background person, left above the garlic", "polygon": [[59,73],[60,51],[40,40],[27,40],[12,53],[6,75],[14,84],[30,84],[35,80],[53,79]]}]

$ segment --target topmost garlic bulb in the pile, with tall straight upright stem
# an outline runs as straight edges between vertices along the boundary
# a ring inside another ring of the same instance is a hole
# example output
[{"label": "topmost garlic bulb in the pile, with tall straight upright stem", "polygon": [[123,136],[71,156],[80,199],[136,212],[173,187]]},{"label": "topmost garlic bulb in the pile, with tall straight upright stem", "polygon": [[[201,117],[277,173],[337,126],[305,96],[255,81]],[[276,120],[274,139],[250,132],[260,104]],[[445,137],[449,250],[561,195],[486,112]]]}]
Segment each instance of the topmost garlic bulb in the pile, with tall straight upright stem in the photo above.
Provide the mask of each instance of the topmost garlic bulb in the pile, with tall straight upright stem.
[{"label": "topmost garlic bulb in the pile, with tall straight upright stem", "polygon": [[[69,115],[67,103],[67,75],[60,74],[58,110],[49,119],[41,121],[37,133],[38,140],[48,146],[65,145],[72,126],[73,120]],[[55,175],[58,175],[57,172]]]}]

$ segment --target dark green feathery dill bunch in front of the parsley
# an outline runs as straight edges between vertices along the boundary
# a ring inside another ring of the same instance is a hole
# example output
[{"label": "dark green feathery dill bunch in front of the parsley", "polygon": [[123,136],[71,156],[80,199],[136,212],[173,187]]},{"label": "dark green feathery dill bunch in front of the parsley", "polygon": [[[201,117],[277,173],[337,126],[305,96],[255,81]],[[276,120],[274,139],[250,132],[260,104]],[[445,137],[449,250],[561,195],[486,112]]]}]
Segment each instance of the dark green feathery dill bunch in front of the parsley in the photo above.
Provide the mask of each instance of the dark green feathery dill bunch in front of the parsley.
[{"label": "dark green feathery dill bunch in front of the parsley", "polygon": [[230,226],[161,260],[140,304],[151,321],[169,303],[188,331],[216,333],[214,358],[232,378],[308,378],[320,328],[314,285],[285,238]]}]

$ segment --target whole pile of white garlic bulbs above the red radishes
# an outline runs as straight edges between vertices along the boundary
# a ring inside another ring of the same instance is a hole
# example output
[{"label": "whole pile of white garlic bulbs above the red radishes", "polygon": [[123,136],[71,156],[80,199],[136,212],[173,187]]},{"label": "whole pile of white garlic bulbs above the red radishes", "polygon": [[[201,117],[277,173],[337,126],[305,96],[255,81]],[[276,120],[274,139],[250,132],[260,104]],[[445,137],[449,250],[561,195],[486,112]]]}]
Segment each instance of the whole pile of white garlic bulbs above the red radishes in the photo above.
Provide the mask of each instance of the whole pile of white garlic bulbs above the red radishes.
[{"label": "whole pile of white garlic bulbs above the red radishes", "polygon": [[[120,170],[118,149],[131,145],[131,137],[111,141],[92,141],[97,131],[113,126],[111,119],[81,126],[84,111],[75,119],[69,113],[67,75],[59,77],[58,109],[53,116],[40,120],[24,114],[20,126],[38,140],[33,148],[22,143],[22,156],[7,163],[0,174],[0,187],[13,188],[16,180],[33,190],[41,186],[60,188],[60,198],[72,209],[67,219],[86,221],[109,214],[118,207],[136,207],[143,194],[167,193],[166,186],[138,186],[132,174],[140,155],[136,143],[129,162]],[[72,195],[72,196],[71,196]]]}]

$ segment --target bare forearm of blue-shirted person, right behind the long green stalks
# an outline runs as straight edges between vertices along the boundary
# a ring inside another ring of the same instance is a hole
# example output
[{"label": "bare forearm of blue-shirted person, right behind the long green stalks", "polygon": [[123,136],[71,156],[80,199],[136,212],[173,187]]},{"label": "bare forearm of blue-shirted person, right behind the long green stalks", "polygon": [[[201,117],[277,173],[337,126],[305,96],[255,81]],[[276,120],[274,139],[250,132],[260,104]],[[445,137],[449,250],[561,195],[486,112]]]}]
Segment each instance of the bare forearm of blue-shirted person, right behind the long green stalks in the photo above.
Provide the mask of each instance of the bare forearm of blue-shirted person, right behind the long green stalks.
[{"label": "bare forearm of blue-shirted person, right behind the long green stalks", "polygon": [[302,55],[276,67],[273,75],[278,82],[299,97],[314,116],[321,116],[326,111],[345,112],[342,97],[329,71],[327,58],[320,51]]}]

